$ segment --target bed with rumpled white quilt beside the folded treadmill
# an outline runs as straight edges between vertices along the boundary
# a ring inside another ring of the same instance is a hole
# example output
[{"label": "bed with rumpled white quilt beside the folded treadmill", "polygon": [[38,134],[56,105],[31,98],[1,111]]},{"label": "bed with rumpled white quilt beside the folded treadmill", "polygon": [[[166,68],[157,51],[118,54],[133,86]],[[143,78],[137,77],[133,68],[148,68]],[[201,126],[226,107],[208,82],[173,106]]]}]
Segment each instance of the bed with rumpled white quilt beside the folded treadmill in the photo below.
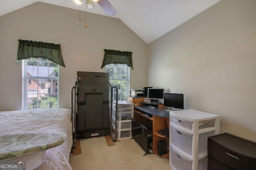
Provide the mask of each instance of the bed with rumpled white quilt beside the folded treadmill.
[{"label": "bed with rumpled white quilt beside the folded treadmill", "polygon": [[45,151],[36,170],[72,170],[68,160],[72,148],[70,109],[0,111],[0,135],[17,133],[65,133],[66,141]]}]

